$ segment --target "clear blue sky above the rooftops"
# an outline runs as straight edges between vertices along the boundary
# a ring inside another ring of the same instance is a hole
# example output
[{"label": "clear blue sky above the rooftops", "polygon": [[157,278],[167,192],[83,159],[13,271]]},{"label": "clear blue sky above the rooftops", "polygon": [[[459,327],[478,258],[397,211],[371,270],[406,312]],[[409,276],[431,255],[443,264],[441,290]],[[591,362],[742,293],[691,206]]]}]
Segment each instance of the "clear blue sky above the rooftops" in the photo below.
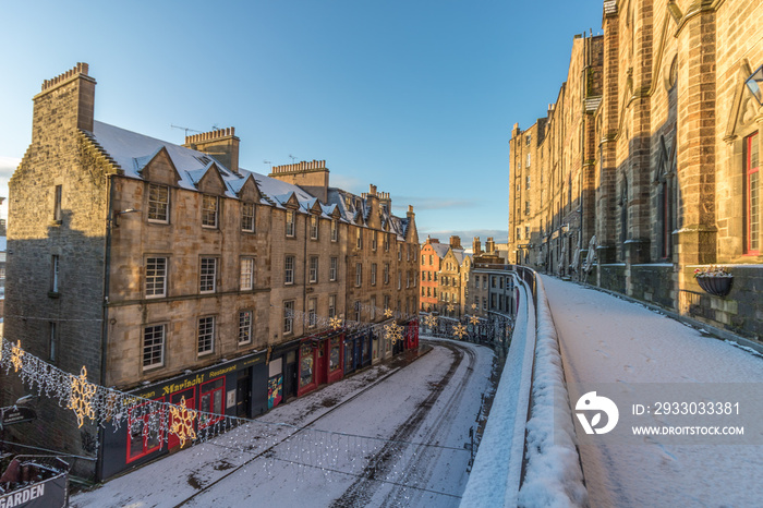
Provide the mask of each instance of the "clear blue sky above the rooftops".
[{"label": "clear blue sky above the rooftops", "polygon": [[[241,167],[325,159],[330,185],[389,192],[420,238],[508,234],[511,126],[543,116],[602,1],[8,2],[0,195],[44,80],[87,62],[96,119],[172,143],[235,126]],[[264,161],[270,164],[264,164]],[[0,210],[5,216],[7,205]]]}]

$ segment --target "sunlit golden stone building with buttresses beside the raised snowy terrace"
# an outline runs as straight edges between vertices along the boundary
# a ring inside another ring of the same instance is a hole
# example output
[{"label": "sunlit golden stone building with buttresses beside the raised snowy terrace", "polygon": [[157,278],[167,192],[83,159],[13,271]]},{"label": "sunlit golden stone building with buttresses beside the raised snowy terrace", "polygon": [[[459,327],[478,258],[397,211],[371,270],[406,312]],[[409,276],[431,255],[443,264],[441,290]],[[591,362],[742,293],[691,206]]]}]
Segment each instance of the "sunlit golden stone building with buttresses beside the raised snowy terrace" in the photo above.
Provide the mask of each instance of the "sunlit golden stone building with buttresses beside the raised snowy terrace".
[{"label": "sunlit golden stone building with buttresses beside the raised snowy terrace", "polygon": [[605,1],[511,132],[510,261],[760,340],[761,37],[754,0]]}]

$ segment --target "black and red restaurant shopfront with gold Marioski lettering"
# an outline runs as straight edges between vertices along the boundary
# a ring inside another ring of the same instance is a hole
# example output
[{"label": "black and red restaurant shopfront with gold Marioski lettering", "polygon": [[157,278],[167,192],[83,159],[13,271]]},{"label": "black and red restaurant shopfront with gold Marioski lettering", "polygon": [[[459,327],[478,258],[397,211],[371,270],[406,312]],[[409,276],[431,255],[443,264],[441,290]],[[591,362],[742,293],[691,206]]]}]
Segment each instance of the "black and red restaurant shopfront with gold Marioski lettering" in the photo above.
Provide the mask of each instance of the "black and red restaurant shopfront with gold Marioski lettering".
[{"label": "black and red restaurant shopfront with gold Marioski lettering", "polygon": [[199,414],[195,431],[215,425],[222,415],[249,419],[267,410],[265,360],[265,353],[247,355],[133,390],[136,400],[147,401],[128,410],[126,425],[106,425],[99,477],[109,479],[180,448],[178,437],[168,433],[172,416],[166,408],[159,414],[149,412],[148,400],[180,404],[184,399],[189,409],[220,415]]}]

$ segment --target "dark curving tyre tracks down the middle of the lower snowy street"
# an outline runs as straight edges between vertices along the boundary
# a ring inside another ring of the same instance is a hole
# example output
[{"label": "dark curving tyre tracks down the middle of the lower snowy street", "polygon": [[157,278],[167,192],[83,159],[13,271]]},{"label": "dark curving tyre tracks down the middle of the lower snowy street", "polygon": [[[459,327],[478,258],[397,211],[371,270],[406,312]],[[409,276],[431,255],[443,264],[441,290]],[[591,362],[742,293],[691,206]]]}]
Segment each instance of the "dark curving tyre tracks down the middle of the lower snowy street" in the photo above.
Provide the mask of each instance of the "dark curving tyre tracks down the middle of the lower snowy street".
[{"label": "dark curving tyre tracks down the middle of the lower snowy street", "polygon": [[[476,353],[470,348],[464,348],[458,344],[458,342],[438,341],[437,344],[450,350],[453,353],[450,367],[438,383],[433,384],[431,394],[419,403],[416,410],[409,416],[405,423],[396,428],[395,433],[389,437],[389,442],[368,459],[368,463],[361,472],[362,477],[350,486],[344,494],[336,499],[330,505],[331,508],[359,507],[366,506],[370,503],[374,494],[380,488],[382,485],[384,485],[384,479],[387,476],[387,474],[398,465],[398,458],[404,448],[409,446],[416,446],[399,442],[410,440],[411,437],[419,432],[424,424],[426,416],[435,406],[435,402],[437,402],[437,399],[439,399],[439,397],[443,395],[453,374],[463,362],[464,355],[468,355],[468,371],[464,377],[461,379],[461,386],[457,388],[446,401],[445,408],[439,412],[435,422],[429,425],[428,428],[436,431],[440,424],[449,418],[450,410],[458,407],[458,404],[461,402],[464,395],[463,387],[468,384],[474,372]],[[438,436],[433,433],[429,433],[429,435],[431,437],[428,437],[426,444],[436,444]],[[419,445],[417,448],[419,447],[421,447],[421,445]],[[437,452],[437,456],[439,456],[439,452]],[[423,476],[423,473],[426,472],[427,465],[436,459],[437,457],[434,457],[431,453],[416,453],[411,461],[403,465],[407,471],[416,471],[416,476],[421,477]],[[411,477],[411,475],[408,475],[408,477]],[[415,484],[415,482],[410,483]],[[403,493],[396,489],[385,497],[382,506],[399,506],[401,503],[401,496],[403,496]]]}]

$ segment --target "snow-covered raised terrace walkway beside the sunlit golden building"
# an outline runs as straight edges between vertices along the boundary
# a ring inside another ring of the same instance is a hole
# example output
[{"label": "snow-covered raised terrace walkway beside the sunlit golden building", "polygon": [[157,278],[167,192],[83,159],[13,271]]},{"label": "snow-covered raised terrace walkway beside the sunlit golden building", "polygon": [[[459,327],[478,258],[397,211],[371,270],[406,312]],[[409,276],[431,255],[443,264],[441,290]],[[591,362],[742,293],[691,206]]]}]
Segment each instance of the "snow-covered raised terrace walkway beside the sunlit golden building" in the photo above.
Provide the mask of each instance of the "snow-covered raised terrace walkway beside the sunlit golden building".
[{"label": "snow-covered raised terrace walkway beside the sunlit golden building", "polygon": [[[602,291],[545,276],[543,282],[573,411],[583,395],[576,385],[581,383],[619,386],[623,392],[638,392],[646,384],[667,391],[678,384],[737,383],[743,384],[739,392],[763,395],[760,354]],[[743,396],[740,400],[747,402]],[[753,444],[717,445],[706,444],[710,438],[675,444],[664,436],[613,443],[576,426],[593,507],[761,506],[763,446],[754,428],[744,435]]]}]

